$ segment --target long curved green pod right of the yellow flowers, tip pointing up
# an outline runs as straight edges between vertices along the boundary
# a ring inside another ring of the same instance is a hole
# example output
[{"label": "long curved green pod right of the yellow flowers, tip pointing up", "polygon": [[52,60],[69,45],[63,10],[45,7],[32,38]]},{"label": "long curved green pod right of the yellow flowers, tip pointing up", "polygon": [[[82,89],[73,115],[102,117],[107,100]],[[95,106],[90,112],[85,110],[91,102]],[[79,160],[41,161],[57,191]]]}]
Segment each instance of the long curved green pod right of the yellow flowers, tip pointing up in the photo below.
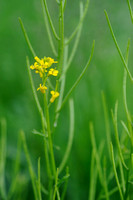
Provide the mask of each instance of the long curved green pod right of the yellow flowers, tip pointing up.
[{"label": "long curved green pod right of the yellow flowers, tip pointing up", "polygon": [[77,78],[77,80],[75,81],[75,83],[73,84],[73,86],[71,87],[71,89],[69,90],[69,92],[67,93],[67,95],[65,96],[63,102],[62,102],[62,105],[61,107],[56,111],[56,112],[59,112],[64,104],[66,103],[66,101],[68,100],[68,98],[70,97],[71,93],[73,92],[73,90],[75,89],[75,87],[78,85],[78,83],[80,82],[80,80],[82,79],[83,75],[85,74],[85,72],[87,71],[89,65],[90,65],[90,62],[91,62],[91,59],[93,57],[93,53],[94,53],[94,46],[95,46],[95,41],[93,41],[93,44],[92,44],[92,49],[91,49],[91,55],[90,55],[90,58],[86,64],[86,66],[84,67],[83,71],[81,72],[81,74],[79,75],[79,77]]}]

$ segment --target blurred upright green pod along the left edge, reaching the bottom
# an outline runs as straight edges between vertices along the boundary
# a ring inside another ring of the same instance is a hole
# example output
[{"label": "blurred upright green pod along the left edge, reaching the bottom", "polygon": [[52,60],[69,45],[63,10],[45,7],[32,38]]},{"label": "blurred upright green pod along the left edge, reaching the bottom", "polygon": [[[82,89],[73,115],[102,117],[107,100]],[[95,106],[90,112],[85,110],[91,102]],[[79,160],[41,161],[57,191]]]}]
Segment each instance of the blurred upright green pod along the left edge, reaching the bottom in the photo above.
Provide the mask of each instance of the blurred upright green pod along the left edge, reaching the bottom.
[{"label": "blurred upright green pod along the left edge, reaching the bottom", "polygon": [[6,125],[6,120],[2,118],[1,141],[0,141],[0,194],[3,199],[6,199],[6,188],[5,188],[6,138],[7,138],[7,125]]}]

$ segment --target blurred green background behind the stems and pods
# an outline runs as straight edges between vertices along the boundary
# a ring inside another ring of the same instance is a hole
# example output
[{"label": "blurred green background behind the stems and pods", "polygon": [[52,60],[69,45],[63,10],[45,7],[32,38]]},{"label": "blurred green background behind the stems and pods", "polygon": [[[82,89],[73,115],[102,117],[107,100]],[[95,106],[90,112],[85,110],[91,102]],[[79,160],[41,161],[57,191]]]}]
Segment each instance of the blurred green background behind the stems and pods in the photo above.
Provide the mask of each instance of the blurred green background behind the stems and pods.
[{"label": "blurred green background behind the stems and pods", "polygon": [[[67,1],[65,11],[65,36],[68,37],[79,20],[79,0]],[[83,1],[85,4],[85,1]],[[58,6],[55,0],[48,1],[48,7],[58,32]],[[127,40],[131,38],[129,66],[133,74],[133,25],[126,0],[93,0],[90,1],[87,16],[84,20],[81,40],[77,53],[68,71],[65,93],[69,90],[81,73],[90,55],[91,45],[95,39],[95,51],[87,73],[72,94],[75,102],[75,135],[68,165],[70,179],[67,199],[87,199],[90,178],[91,143],[89,136],[89,121],[95,126],[97,145],[105,138],[105,125],[101,91],[106,95],[110,109],[119,101],[118,118],[125,119],[122,99],[122,81],[124,67],[113,43],[104,15],[104,9],[113,26],[119,46],[125,55]],[[39,57],[53,57],[48,36],[43,21],[39,0],[0,1],[0,117],[7,120],[7,182],[10,184],[12,165],[16,155],[18,131],[22,128],[27,137],[28,147],[36,168],[37,158],[43,157],[42,138],[32,134],[33,129],[40,130],[41,124],[38,110],[32,95],[26,68],[26,56],[33,63],[32,55],[27,47],[20,28],[18,17],[21,17],[30,41]],[[73,44],[73,42],[72,42]],[[71,53],[70,46],[70,52]],[[56,59],[56,58],[55,58]],[[128,105],[133,111],[133,92],[128,81]],[[112,127],[111,117],[110,124]],[[69,130],[68,104],[61,112],[59,126],[55,133],[54,143],[61,147],[56,152],[57,162],[61,160],[66,148]],[[26,198],[33,199],[27,163],[22,155],[21,184],[27,191]],[[42,170],[43,171],[43,170]],[[44,172],[42,172],[44,174]],[[43,181],[45,182],[45,175]],[[98,192],[98,191],[97,191]],[[21,198],[20,198],[21,199]]]}]

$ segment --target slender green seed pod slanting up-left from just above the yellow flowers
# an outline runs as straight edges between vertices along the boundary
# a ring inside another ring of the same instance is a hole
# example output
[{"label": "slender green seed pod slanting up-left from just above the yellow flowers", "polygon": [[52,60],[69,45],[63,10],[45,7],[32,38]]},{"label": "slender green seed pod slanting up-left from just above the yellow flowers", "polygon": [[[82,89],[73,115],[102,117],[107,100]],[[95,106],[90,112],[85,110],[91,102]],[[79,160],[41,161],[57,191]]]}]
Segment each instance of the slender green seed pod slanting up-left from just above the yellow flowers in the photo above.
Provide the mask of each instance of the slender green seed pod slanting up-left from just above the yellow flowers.
[{"label": "slender green seed pod slanting up-left from just above the yellow flowers", "polygon": [[19,22],[20,22],[21,29],[22,29],[22,31],[23,31],[25,40],[26,40],[26,42],[27,42],[27,45],[28,45],[28,47],[29,47],[29,49],[30,49],[30,51],[31,51],[31,53],[32,53],[32,55],[33,55],[33,57],[35,57],[35,56],[36,56],[36,53],[35,53],[35,51],[34,51],[32,45],[31,45],[31,43],[30,43],[30,40],[29,40],[29,38],[28,38],[28,35],[27,35],[26,30],[25,30],[24,25],[23,25],[23,22],[22,22],[22,20],[21,20],[20,17],[19,17],[18,19],[19,19]]}]

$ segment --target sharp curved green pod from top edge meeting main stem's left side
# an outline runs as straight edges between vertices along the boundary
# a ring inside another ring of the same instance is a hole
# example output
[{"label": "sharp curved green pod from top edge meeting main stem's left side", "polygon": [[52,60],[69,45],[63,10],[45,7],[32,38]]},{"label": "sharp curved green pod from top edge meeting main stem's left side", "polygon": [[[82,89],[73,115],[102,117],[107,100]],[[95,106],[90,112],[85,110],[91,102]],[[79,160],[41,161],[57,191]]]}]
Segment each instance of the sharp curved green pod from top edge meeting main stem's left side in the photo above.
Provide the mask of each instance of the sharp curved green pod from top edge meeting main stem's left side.
[{"label": "sharp curved green pod from top edge meeting main stem's left side", "polygon": [[53,32],[53,35],[55,36],[55,39],[56,39],[56,40],[60,40],[60,38],[58,37],[58,35],[57,35],[56,31],[55,31],[55,28],[54,28],[54,25],[53,25],[53,22],[52,22],[52,19],[51,19],[49,10],[48,10],[48,6],[47,6],[47,3],[46,3],[46,0],[43,0],[43,2],[44,2],[46,14],[47,14],[47,17],[48,17],[49,24],[50,24],[50,26],[51,26],[51,30],[52,30],[52,32]]}]

